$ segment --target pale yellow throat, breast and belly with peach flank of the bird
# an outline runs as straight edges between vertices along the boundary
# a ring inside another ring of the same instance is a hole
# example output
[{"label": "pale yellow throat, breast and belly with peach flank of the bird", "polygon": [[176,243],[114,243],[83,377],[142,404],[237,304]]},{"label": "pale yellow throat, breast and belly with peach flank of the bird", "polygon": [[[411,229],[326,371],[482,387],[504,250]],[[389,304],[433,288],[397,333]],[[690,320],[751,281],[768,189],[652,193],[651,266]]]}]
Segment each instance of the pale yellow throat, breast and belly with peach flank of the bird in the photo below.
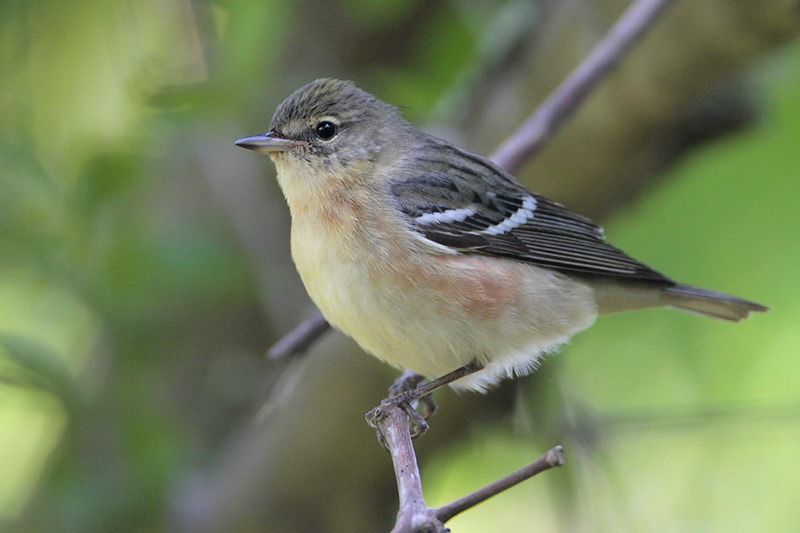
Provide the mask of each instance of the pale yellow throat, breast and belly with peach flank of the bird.
[{"label": "pale yellow throat, breast and belly with peach flank of the bird", "polygon": [[325,317],[378,358],[429,377],[474,359],[487,364],[486,375],[520,374],[594,319],[584,284],[439,249],[388,198],[329,178],[280,176],[292,257]]}]

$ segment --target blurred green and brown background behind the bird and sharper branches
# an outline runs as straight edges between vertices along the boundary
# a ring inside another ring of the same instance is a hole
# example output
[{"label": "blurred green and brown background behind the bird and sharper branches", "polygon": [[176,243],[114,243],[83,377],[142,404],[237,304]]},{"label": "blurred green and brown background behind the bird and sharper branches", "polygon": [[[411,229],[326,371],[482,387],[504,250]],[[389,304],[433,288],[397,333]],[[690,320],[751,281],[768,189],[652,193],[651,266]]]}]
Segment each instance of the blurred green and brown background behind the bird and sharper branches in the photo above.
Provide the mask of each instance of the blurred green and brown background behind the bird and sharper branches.
[{"label": "blurred green and brown background behind the bird and sharper branches", "polygon": [[[602,318],[534,376],[439,393],[453,531],[800,530],[800,4],[679,1],[520,173],[733,325]],[[266,158],[233,141],[322,76],[488,154],[627,2],[0,3],[0,530],[385,531],[362,414],[396,371],[313,307]]]}]

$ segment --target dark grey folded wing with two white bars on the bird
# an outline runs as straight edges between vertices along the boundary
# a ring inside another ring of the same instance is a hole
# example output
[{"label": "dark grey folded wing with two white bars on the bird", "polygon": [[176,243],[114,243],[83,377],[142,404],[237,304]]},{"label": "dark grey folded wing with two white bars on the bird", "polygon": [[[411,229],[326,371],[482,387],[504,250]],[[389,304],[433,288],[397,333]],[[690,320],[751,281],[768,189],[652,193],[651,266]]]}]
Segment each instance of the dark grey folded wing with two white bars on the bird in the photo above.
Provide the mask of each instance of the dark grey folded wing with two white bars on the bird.
[{"label": "dark grey folded wing with two white bars on the bird", "polygon": [[444,141],[420,150],[390,190],[413,229],[455,251],[672,284],[611,246],[588,218],[527,191],[490,161]]}]

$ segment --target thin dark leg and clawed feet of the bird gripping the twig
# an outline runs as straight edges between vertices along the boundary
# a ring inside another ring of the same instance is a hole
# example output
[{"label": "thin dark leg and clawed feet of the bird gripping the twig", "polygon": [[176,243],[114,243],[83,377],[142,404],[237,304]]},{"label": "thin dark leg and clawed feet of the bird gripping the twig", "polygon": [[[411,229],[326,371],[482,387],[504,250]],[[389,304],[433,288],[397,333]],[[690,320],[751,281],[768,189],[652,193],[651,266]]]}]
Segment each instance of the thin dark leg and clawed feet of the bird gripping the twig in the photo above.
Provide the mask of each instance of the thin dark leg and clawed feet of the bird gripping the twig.
[{"label": "thin dark leg and clawed feet of the bird gripping the twig", "polygon": [[[367,412],[367,423],[371,427],[378,429],[376,420],[382,416],[382,410],[389,407],[399,407],[403,409],[411,421],[411,437],[417,438],[428,430],[427,419],[436,412],[436,404],[433,402],[431,394],[482,368],[483,365],[473,361],[430,381],[425,381],[425,378],[419,374],[407,370],[389,387],[389,397],[381,401],[378,407]],[[418,407],[423,408],[424,414],[417,411]],[[385,441],[380,431],[378,431],[378,440],[385,447]]]}]

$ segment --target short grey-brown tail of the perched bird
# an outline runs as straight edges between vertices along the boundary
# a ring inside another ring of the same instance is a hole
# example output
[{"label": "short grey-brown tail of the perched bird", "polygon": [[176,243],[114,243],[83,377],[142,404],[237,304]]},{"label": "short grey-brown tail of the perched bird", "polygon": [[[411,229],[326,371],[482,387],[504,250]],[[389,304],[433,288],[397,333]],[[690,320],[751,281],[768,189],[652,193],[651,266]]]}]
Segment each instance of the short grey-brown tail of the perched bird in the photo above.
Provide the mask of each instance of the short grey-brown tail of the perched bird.
[{"label": "short grey-brown tail of the perched bird", "polygon": [[763,313],[769,308],[721,292],[698,289],[689,285],[676,285],[661,293],[667,305],[683,311],[699,313],[722,320],[738,322],[751,312]]}]

